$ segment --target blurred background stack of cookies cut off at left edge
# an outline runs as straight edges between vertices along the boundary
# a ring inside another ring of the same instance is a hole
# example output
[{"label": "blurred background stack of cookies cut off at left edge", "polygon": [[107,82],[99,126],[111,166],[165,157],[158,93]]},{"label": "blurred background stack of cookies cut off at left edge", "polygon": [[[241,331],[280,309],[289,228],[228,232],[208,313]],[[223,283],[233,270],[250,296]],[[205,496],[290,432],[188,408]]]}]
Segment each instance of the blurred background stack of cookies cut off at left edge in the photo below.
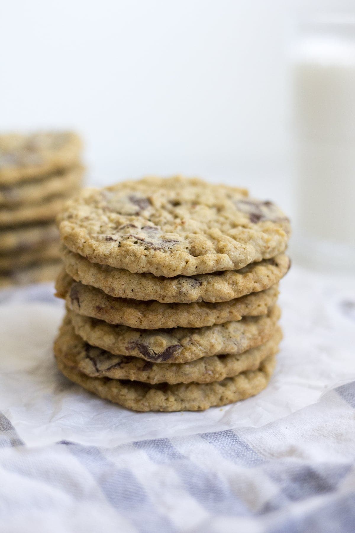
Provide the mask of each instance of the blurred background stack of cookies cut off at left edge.
[{"label": "blurred background stack of cookies cut off at left edge", "polygon": [[80,187],[80,152],[70,132],[0,135],[0,286],[57,275],[55,217]]}]

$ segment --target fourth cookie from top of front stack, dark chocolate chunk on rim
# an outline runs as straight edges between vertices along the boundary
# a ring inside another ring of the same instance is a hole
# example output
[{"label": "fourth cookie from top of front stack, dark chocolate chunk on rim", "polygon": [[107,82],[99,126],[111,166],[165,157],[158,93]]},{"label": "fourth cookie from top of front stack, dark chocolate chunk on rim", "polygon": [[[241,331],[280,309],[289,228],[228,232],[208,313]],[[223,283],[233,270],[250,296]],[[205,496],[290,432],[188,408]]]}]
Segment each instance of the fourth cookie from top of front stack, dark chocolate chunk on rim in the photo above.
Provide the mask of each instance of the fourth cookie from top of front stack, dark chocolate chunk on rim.
[{"label": "fourth cookie from top of front stack, dark chocolate chunk on rim", "polygon": [[77,335],[115,355],[151,362],[184,363],[224,353],[239,354],[268,341],[280,317],[277,305],[261,317],[203,328],[134,329],[114,326],[68,310]]}]

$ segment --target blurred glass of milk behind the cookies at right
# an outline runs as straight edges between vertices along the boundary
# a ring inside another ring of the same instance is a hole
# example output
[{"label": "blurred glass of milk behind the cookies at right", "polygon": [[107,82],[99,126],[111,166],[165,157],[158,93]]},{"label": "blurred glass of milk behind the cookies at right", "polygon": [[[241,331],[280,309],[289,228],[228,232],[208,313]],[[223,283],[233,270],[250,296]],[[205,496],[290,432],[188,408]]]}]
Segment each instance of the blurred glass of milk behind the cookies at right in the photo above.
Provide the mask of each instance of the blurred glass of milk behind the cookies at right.
[{"label": "blurred glass of milk behind the cookies at right", "polygon": [[355,274],[355,18],[300,25],[292,93],[298,255]]}]

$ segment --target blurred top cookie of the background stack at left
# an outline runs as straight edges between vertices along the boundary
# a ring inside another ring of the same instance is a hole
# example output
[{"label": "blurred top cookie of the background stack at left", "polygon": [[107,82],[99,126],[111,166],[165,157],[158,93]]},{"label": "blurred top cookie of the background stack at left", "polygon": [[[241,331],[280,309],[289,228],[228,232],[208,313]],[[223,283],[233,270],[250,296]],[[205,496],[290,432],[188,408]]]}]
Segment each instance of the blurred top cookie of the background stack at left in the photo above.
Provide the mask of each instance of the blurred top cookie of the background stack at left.
[{"label": "blurred top cookie of the background stack at left", "polygon": [[74,166],[81,142],[72,132],[0,135],[0,184],[33,180]]}]

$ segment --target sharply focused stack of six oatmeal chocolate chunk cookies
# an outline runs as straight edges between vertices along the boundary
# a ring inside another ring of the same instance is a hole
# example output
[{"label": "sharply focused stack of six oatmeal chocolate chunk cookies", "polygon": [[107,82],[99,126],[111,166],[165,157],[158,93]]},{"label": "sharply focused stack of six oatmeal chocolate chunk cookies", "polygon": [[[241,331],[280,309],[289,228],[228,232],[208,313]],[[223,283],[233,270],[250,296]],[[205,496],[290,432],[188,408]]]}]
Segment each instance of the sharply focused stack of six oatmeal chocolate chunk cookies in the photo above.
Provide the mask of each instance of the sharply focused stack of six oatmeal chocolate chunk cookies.
[{"label": "sharply focused stack of six oatmeal chocolate chunk cookies", "polygon": [[85,189],[58,217],[61,372],[137,411],[200,410],[266,387],[290,223],[197,179]]}]

